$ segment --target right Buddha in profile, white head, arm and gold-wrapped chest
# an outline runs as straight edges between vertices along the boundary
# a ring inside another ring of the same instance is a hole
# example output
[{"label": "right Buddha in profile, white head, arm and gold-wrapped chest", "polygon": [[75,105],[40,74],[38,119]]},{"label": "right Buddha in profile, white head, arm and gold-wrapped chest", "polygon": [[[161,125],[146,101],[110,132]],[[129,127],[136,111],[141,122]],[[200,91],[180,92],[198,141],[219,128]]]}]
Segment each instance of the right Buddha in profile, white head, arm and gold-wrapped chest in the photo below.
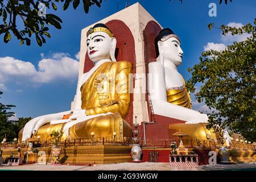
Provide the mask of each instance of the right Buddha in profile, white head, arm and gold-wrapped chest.
[{"label": "right Buddha in profile, white head, arm and gold-wrapped chest", "polygon": [[183,55],[180,44],[170,28],[164,28],[155,38],[157,59],[148,65],[148,92],[154,113],[186,123],[208,122],[206,114],[191,109],[191,97],[177,71]]}]

